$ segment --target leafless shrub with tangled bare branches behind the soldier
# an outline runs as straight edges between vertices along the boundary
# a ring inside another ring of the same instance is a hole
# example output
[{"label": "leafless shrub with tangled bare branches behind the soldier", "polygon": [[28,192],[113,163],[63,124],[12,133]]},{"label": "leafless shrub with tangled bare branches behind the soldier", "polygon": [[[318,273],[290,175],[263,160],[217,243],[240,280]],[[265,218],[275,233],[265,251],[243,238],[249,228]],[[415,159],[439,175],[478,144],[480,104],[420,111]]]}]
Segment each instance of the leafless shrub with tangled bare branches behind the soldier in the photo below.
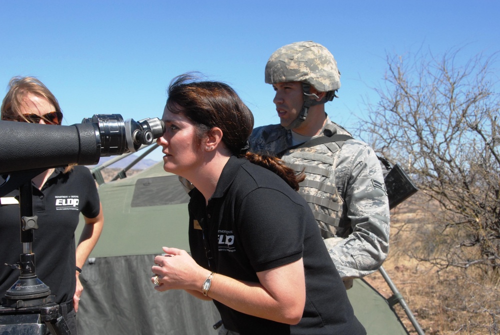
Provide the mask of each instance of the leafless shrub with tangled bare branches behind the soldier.
[{"label": "leafless shrub with tangled bare branches behind the soldier", "polygon": [[[387,56],[380,100],[368,104],[363,134],[404,166],[438,209],[426,252],[438,268],[500,270],[500,100],[493,56],[460,65],[460,50],[441,58]],[[422,244],[423,246],[423,244]],[[416,254],[414,255],[416,256]]]}]

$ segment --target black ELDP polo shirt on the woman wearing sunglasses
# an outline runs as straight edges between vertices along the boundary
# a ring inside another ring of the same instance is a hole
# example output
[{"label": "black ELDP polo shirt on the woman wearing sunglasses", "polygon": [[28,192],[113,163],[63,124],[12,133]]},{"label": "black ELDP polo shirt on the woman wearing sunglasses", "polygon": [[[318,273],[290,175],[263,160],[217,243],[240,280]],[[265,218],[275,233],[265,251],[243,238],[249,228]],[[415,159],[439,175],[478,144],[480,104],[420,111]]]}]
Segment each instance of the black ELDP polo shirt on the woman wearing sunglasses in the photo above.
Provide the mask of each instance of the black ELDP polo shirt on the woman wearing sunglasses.
[{"label": "black ELDP polo shirt on the woman wearing sunglasses", "polygon": [[[74,231],[79,214],[93,218],[100,209],[95,181],[88,168],[75,166],[68,173],[63,171],[55,169],[41,190],[32,188],[33,215],[38,216],[39,227],[34,230],[32,242],[36,275],[49,286],[57,303],[72,301],[76,287]],[[0,199],[1,298],[19,276],[19,270],[3,265],[15,264],[22,253],[19,205],[13,203],[18,193],[16,189]]]}]

